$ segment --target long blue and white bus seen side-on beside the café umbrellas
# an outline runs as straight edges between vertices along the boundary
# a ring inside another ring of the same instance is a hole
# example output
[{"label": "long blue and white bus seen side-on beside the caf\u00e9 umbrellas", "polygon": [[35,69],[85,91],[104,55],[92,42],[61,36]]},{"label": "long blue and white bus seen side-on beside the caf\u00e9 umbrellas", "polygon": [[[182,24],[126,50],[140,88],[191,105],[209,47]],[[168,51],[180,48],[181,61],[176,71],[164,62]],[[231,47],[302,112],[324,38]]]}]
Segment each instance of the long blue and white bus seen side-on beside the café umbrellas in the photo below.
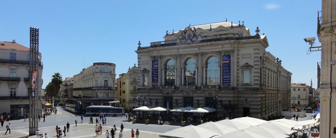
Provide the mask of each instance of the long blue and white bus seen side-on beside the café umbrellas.
[{"label": "long blue and white bus seen side-on beside the caf\u00e9 umbrellas", "polygon": [[125,109],[113,106],[89,106],[86,107],[87,116],[98,116],[100,113],[105,113],[106,116],[124,116]]}]

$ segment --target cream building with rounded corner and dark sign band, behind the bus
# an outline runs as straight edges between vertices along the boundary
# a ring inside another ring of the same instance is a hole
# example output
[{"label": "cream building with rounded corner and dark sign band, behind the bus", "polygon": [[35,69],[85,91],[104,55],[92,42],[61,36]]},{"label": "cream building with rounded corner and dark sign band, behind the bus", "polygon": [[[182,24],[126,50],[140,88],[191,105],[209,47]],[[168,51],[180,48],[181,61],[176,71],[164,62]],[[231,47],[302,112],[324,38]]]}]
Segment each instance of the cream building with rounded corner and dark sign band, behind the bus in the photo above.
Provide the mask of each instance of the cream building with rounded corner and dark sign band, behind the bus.
[{"label": "cream building with rounded corner and dark sign band, behind the bus", "polygon": [[115,100],[116,64],[96,62],[73,77],[73,98],[84,109],[91,105],[110,105]]}]

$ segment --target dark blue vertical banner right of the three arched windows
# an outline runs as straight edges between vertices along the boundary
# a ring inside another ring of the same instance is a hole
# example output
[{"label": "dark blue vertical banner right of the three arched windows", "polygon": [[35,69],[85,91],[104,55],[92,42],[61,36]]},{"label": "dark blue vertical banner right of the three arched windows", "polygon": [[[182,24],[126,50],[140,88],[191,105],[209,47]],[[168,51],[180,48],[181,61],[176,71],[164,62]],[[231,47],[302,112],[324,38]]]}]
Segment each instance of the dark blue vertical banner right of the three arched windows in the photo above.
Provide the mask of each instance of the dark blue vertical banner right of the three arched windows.
[{"label": "dark blue vertical banner right of the three arched windows", "polygon": [[222,86],[231,85],[231,55],[222,56]]}]

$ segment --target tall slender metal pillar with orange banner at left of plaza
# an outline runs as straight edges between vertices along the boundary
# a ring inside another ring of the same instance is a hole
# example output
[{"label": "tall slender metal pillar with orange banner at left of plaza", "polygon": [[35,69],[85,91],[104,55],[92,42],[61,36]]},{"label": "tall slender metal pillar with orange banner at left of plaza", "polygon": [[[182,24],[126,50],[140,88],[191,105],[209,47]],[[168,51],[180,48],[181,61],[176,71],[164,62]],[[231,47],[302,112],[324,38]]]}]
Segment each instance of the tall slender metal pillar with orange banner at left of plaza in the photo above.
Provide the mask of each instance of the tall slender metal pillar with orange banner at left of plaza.
[{"label": "tall slender metal pillar with orange banner at left of plaza", "polygon": [[30,66],[29,66],[29,80],[31,88],[29,89],[29,135],[35,135],[38,129],[38,106],[39,103],[39,29],[30,27]]}]

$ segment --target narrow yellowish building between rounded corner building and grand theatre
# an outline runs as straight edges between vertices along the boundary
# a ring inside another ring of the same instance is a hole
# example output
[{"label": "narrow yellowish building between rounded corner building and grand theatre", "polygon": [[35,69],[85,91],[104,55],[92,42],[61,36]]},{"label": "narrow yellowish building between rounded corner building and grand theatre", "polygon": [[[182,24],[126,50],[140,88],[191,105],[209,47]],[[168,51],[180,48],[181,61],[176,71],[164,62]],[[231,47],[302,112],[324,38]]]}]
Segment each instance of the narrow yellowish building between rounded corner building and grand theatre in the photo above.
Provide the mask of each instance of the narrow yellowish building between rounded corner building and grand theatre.
[{"label": "narrow yellowish building between rounded corner building and grand theatre", "polygon": [[139,107],[136,102],[136,89],[138,86],[138,68],[135,66],[129,68],[127,73],[119,74],[117,78],[116,97],[120,101],[120,107],[125,111],[131,112],[134,108]]}]

